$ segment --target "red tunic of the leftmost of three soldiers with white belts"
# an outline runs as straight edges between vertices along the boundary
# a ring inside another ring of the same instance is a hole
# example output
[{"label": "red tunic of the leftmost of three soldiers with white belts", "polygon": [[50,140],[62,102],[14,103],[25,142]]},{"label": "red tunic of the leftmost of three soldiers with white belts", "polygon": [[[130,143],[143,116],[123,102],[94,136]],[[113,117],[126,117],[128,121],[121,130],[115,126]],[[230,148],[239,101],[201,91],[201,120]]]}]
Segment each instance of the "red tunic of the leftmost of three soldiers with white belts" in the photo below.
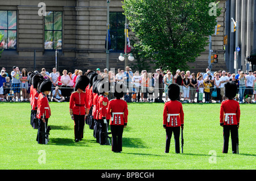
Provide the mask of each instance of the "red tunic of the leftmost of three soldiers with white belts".
[{"label": "red tunic of the leftmost of three soldiers with white belts", "polygon": [[107,114],[112,117],[110,125],[127,125],[128,107],[125,100],[110,100]]}]

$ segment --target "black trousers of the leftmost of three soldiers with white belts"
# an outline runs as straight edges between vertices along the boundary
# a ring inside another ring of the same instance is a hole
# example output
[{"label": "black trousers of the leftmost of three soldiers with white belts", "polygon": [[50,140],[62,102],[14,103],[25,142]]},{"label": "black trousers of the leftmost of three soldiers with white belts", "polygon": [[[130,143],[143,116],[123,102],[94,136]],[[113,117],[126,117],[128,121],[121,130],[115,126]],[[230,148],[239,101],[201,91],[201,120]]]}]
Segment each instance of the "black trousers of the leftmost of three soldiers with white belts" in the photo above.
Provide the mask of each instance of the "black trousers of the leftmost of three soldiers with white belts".
[{"label": "black trousers of the leftmost of three soldiers with white belts", "polygon": [[112,151],[122,151],[123,125],[110,125],[112,134]]}]

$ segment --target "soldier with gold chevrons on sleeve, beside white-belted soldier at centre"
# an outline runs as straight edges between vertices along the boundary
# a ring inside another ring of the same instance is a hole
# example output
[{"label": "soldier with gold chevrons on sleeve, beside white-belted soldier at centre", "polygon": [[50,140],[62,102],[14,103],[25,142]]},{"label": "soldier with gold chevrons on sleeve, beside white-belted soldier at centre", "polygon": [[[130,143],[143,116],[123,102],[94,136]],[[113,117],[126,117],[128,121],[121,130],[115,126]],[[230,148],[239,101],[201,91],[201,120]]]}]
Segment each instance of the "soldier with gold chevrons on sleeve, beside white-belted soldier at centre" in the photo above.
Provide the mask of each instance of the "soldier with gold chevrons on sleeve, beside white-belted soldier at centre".
[{"label": "soldier with gold chevrons on sleeve, beside white-belted soldier at centre", "polygon": [[102,79],[98,83],[98,92],[100,93],[100,96],[98,97],[98,113],[97,113],[97,119],[100,123],[100,126],[98,128],[99,132],[99,143],[101,145],[110,145],[109,139],[108,139],[108,125],[109,125],[109,119],[110,115],[108,115],[107,109],[109,104],[109,81]]}]

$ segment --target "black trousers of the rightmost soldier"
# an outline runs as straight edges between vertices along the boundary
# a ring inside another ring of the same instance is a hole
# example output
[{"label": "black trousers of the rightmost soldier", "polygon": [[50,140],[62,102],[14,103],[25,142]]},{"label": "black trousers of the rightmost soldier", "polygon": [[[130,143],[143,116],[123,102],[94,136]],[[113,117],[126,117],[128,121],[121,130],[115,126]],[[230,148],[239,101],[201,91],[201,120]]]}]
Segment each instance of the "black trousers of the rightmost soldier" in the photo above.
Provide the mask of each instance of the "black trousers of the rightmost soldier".
[{"label": "black trousers of the rightmost soldier", "polygon": [[223,126],[224,144],[223,144],[222,153],[228,153],[230,133],[231,133],[231,141],[232,141],[232,153],[237,153],[237,141],[238,141],[237,125],[224,125]]}]

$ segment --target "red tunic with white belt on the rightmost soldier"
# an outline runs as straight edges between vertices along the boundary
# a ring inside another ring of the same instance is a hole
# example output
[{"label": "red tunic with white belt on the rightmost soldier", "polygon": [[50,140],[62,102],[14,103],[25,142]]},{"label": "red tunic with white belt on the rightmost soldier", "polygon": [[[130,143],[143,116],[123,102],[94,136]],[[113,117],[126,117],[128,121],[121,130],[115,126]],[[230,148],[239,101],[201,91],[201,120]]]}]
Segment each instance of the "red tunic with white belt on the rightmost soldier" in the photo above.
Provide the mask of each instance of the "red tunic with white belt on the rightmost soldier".
[{"label": "red tunic with white belt on the rightmost soldier", "polygon": [[221,103],[220,125],[238,125],[240,122],[240,106],[236,100],[225,100]]}]

